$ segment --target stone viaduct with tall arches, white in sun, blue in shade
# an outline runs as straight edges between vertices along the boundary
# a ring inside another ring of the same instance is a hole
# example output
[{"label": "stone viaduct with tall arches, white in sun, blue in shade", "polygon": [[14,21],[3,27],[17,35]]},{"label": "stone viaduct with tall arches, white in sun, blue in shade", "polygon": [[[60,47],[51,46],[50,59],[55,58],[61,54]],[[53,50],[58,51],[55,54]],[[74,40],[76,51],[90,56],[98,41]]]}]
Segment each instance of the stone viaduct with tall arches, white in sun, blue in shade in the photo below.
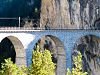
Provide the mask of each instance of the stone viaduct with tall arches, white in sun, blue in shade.
[{"label": "stone viaduct with tall arches, white in sun, blue in shade", "polygon": [[0,30],[0,41],[8,38],[14,45],[16,64],[31,64],[34,45],[43,36],[50,37],[56,44],[57,75],[65,75],[66,68],[71,68],[71,54],[75,43],[83,36],[100,37],[99,30]]}]

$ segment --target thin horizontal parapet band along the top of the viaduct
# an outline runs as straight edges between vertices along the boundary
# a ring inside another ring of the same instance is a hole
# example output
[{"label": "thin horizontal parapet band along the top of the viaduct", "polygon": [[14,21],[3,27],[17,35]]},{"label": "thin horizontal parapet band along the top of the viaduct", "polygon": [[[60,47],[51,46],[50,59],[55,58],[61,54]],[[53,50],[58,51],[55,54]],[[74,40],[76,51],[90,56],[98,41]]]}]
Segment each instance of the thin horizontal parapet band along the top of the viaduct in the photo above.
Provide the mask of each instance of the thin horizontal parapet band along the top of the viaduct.
[{"label": "thin horizontal parapet band along the top of the viaduct", "polygon": [[12,27],[12,28],[9,28],[9,27],[5,27],[5,28],[0,28],[0,32],[68,32],[68,33],[83,33],[83,32],[100,32],[100,30],[80,30],[80,29],[51,29],[51,30],[45,30],[45,29],[32,29],[32,28],[16,28],[16,27]]}]

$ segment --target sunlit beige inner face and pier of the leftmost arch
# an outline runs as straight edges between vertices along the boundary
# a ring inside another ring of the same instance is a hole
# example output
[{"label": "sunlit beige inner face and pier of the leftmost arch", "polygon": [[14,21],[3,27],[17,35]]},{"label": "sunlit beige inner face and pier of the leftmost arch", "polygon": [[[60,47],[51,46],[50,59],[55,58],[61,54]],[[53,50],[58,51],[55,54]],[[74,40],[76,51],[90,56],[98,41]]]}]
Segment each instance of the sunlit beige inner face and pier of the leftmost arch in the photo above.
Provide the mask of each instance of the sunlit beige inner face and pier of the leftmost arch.
[{"label": "sunlit beige inner face and pier of the leftmost arch", "polygon": [[[7,41],[9,40],[9,41]],[[8,42],[12,43],[12,47],[15,50],[15,63],[19,66],[24,65],[26,66],[26,52],[24,46],[22,45],[21,41],[15,36],[7,36],[2,39],[1,43],[5,41],[7,45]],[[10,48],[9,48],[10,49]]]}]

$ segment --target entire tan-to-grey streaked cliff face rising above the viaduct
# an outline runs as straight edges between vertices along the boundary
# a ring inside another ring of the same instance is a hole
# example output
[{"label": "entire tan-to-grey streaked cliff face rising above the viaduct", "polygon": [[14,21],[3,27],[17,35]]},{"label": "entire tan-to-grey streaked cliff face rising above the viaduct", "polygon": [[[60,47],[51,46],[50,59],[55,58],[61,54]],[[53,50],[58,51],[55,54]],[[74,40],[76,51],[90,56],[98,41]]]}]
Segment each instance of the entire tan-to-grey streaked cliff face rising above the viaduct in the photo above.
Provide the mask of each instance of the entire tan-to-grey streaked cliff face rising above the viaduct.
[{"label": "entire tan-to-grey streaked cliff face rising above the viaduct", "polygon": [[41,27],[100,29],[100,0],[42,0]]}]

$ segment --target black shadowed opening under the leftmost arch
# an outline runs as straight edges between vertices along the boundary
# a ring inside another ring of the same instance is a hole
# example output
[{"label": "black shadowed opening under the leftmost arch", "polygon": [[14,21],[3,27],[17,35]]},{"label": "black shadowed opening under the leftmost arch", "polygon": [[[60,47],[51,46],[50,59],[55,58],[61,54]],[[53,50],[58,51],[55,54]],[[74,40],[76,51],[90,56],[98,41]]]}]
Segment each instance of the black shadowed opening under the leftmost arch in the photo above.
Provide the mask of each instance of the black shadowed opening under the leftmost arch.
[{"label": "black shadowed opening under the leftmost arch", "polygon": [[4,63],[4,59],[11,58],[13,63],[16,62],[16,52],[12,42],[6,37],[0,43],[0,67]]}]

